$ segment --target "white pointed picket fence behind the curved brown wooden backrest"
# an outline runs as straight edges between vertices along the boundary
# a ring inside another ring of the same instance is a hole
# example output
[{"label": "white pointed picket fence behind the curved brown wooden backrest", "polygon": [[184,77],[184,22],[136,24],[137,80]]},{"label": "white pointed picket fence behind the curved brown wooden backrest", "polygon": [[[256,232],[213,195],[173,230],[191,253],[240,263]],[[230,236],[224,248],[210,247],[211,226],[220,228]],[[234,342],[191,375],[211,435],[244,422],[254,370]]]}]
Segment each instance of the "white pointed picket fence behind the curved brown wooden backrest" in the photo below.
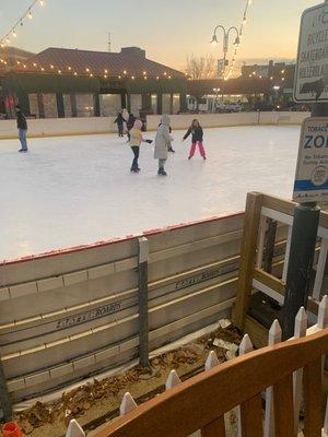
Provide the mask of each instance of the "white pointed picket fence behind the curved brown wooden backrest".
[{"label": "white pointed picket fence behind the curved brown wooden backrest", "polygon": [[[307,329],[307,314],[302,307],[295,319],[295,330],[294,339],[300,339],[305,335],[311,335],[321,329],[328,328],[328,296],[324,296],[319,305],[318,321],[315,326]],[[273,345],[281,342],[281,328],[278,320],[274,320],[271,329],[269,331],[268,345]],[[253,344],[247,334],[244,335],[243,341],[239,345],[239,355],[247,354],[253,351]],[[211,351],[204,364],[204,371],[220,365],[219,359],[214,351]],[[302,408],[302,385],[303,385],[303,369],[298,369],[293,375],[293,391],[294,391],[294,423],[295,423],[295,436],[297,436],[300,429],[300,412]],[[179,385],[180,378],[178,377],[176,370],[171,370],[168,378],[165,383],[165,389],[171,390],[173,387]],[[263,424],[263,436],[273,437],[274,436],[274,420],[273,420],[273,390],[269,387],[263,394],[266,399],[266,412],[265,412],[265,424]],[[126,392],[121,404],[120,404],[120,415],[124,416],[137,409],[138,405],[129,392]],[[242,433],[242,421],[241,412],[237,408],[237,434],[238,437],[243,435]],[[198,436],[198,433],[194,433],[192,437]],[[67,429],[66,437],[85,437],[85,433],[82,427],[78,424],[75,420],[72,420]],[[321,437],[328,437],[328,400],[326,408],[326,417],[321,432]]]}]

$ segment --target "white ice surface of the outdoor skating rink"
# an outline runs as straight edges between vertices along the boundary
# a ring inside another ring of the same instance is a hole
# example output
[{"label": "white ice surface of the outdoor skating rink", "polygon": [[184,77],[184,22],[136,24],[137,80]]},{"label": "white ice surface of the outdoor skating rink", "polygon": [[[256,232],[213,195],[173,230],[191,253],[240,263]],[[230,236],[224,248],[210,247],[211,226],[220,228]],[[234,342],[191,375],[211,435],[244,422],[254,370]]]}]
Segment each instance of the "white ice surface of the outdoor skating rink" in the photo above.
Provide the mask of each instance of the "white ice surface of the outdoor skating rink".
[{"label": "white ice surface of the outdoor skating rink", "polygon": [[149,144],[131,174],[131,150],[115,134],[31,139],[28,154],[1,140],[0,259],[242,211],[250,190],[291,197],[300,127],[206,130],[206,162],[188,161],[183,133],[173,132],[166,178]]}]

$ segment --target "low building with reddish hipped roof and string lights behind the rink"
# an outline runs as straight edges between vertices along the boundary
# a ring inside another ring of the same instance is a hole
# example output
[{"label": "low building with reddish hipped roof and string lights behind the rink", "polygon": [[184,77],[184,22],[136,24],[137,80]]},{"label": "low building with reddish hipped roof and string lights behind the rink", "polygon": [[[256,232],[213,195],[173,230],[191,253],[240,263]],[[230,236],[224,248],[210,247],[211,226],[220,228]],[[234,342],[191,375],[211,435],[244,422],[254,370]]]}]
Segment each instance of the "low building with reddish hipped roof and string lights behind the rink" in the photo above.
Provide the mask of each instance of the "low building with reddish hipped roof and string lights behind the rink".
[{"label": "low building with reddish hipped roof and string lights behind the rink", "polygon": [[112,116],[120,108],[177,114],[185,109],[187,78],[149,60],[138,47],[120,52],[48,48],[7,71],[2,92],[9,115],[15,102],[39,118]]}]

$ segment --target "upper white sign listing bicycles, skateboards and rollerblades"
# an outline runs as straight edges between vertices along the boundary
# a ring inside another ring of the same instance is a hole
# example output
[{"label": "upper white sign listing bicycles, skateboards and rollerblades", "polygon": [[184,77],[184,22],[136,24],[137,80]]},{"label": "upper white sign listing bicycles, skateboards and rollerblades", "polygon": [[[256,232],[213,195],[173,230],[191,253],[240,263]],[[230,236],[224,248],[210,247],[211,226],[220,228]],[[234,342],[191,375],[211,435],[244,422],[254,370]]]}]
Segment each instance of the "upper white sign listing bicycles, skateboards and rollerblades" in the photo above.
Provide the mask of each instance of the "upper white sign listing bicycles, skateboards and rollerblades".
[{"label": "upper white sign listing bicycles, skateboards and rollerblades", "polygon": [[328,3],[303,12],[294,83],[296,102],[328,102]]}]

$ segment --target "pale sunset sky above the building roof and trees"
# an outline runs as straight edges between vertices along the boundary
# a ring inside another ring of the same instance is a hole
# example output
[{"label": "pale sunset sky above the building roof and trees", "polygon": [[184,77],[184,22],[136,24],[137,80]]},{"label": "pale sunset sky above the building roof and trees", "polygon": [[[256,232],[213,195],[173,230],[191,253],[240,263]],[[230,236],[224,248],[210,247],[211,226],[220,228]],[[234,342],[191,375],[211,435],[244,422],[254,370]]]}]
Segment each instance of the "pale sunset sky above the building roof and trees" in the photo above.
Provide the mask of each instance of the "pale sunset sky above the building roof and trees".
[{"label": "pale sunset sky above the building roof and trees", "polygon": [[[301,13],[318,0],[253,0],[238,60],[295,59]],[[32,3],[1,2],[1,37]],[[4,3],[4,4],[3,4]],[[212,54],[213,28],[241,24],[245,0],[45,0],[33,20],[19,26],[12,45],[40,51],[47,47],[113,51],[139,46],[149,58],[183,69],[186,57]]]}]

